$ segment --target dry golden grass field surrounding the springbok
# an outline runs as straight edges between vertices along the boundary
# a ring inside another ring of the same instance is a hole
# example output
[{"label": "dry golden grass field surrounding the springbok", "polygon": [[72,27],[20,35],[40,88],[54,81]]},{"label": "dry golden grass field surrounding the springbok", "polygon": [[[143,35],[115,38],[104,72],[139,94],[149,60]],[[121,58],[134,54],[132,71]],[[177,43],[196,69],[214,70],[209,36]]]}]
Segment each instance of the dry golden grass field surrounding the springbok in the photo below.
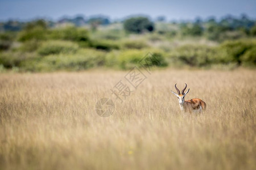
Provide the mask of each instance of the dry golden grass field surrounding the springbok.
[{"label": "dry golden grass field surrounding the springbok", "polygon": [[[158,70],[110,117],[128,71],[0,74],[0,169],[256,169],[256,71]],[[174,84],[207,111],[183,116]]]}]

